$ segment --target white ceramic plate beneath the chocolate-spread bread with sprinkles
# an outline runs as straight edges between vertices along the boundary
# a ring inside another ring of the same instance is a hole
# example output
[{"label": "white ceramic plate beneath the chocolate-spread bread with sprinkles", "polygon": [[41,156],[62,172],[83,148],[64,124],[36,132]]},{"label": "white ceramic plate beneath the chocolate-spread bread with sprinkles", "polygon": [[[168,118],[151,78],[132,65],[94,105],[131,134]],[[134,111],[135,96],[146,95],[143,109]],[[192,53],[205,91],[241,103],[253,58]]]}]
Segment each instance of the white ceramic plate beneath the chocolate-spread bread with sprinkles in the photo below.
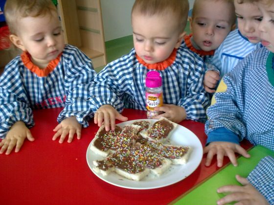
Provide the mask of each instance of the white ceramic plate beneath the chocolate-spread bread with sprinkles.
[{"label": "white ceramic plate beneath the chocolate-spread bread with sprinkles", "polygon": [[[157,121],[157,120],[148,120],[148,119],[144,119],[144,120],[150,121],[152,123]],[[127,121],[124,123],[119,123],[117,125],[123,127],[126,124],[132,124],[135,121],[141,121],[141,120]],[[169,142],[175,145],[190,146],[192,147],[192,152],[190,153],[188,162],[186,164],[183,164],[183,165],[173,164],[160,177],[156,177],[150,173],[141,181],[137,182],[133,180],[128,180],[116,174],[115,172],[110,173],[108,176],[103,176],[102,174],[94,171],[94,165],[92,162],[94,160],[101,160],[103,159],[103,157],[91,151],[90,149],[91,143],[87,150],[87,162],[89,167],[91,168],[91,171],[97,177],[99,177],[100,179],[102,179],[103,181],[109,184],[113,184],[115,186],[124,187],[124,188],[130,188],[130,189],[160,188],[163,186],[168,186],[170,184],[175,184],[183,180],[187,176],[189,176],[199,166],[203,157],[203,147],[200,140],[193,132],[183,127],[182,125],[178,125],[175,128]]]}]

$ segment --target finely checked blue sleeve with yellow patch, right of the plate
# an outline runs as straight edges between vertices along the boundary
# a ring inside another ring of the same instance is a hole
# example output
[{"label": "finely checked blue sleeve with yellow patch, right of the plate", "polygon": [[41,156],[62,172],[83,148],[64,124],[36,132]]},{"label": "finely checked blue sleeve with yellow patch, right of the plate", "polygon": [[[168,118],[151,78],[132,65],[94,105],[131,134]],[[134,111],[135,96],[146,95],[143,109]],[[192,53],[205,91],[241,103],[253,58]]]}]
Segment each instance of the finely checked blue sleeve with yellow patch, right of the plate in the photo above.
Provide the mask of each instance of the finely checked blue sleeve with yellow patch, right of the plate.
[{"label": "finely checked blue sleeve with yellow patch, right of the plate", "polygon": [[239,141],[246,137],[246,127],[243,122],[241,109],[244,106],[244,78],[251,58],[239,63],[232,72],[221,80],[206,110],[206,134],[210,131],[225,127],[239,136]]}]

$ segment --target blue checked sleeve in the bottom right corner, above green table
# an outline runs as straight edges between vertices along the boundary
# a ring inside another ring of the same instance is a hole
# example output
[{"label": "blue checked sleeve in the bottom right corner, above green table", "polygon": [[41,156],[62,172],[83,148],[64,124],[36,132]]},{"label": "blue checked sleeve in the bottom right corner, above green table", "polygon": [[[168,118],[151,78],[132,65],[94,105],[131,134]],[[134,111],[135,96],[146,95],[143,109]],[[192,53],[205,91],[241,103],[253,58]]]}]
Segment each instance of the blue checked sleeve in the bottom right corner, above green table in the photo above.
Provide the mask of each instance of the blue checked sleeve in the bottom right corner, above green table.
[{"label": "blue checked sleeve in the bottom right corner, above green table", "polygon": [[269,202],[274,204],[274,158],[267,156],[251,171],[248,181]]}]

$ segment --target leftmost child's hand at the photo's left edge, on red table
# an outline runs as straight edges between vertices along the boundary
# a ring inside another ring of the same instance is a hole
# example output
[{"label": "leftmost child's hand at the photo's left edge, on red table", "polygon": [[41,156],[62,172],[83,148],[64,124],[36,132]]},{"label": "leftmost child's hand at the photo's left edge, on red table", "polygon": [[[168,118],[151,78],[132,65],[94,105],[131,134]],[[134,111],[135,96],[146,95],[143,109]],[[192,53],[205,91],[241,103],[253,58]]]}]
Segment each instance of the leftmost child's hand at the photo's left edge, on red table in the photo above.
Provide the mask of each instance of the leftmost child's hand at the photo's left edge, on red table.
[{"label": "leftmost child's hand at the photo's left edge, on red table", "polygon": [[0,142],[0,147],[2,147],[0,149],[0,154],[3,154],[5,150],[7,150],[6,154],[10,154],[15,146],[15,152],[19,152],[25,138],[30,142],[34,141],[34,138],[25,123],[22,121],[14,123],[10,127],[6,137]]}]

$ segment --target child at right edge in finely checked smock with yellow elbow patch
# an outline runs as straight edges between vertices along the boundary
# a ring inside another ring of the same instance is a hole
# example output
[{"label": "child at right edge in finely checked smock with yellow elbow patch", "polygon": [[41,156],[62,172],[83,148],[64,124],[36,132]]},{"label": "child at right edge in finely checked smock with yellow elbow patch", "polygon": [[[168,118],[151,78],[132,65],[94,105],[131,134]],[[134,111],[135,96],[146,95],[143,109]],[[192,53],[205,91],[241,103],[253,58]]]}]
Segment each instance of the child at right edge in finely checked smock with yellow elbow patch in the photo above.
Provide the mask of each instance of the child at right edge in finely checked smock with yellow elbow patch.
[{"label": "child at right edge in finely checked smock with yellow elbow patch", "polygon": [[[239,145],[244,138],[274,151],[274,1],[255,2],[263,16],[258,25],[265,47],[253,51],[225,75],[207,109],[208,136],[206,165],[217,155],[217,165],[228,156],[237,165],[235,152],[250,157]],[[260,87],[260,89],[258,89]],[[218,192],[231,192],[218,205],[237,201],[243,204],[274,204],[274,158],[261,160],[248,178],[236,176],[244,186],[228,185]]]}]

